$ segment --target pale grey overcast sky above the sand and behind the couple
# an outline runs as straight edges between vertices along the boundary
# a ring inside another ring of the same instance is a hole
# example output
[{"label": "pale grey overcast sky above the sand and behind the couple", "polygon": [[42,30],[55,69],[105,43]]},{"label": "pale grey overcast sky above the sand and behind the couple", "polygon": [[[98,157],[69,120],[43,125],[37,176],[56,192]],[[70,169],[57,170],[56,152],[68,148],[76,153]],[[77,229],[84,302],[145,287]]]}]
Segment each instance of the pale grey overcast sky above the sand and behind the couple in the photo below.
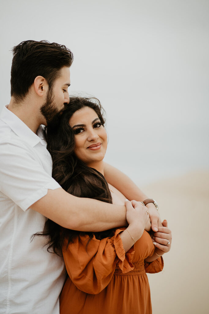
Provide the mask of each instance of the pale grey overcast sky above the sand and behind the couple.
[{"label": "pale grey overcast sky above the sand and behind the couple", "polygon": [[139,184],[209,169],[209,1],[0,1],[0,107],[11,48],[24,40],[74,54],[70,94],[107,112],[106,161]]}]

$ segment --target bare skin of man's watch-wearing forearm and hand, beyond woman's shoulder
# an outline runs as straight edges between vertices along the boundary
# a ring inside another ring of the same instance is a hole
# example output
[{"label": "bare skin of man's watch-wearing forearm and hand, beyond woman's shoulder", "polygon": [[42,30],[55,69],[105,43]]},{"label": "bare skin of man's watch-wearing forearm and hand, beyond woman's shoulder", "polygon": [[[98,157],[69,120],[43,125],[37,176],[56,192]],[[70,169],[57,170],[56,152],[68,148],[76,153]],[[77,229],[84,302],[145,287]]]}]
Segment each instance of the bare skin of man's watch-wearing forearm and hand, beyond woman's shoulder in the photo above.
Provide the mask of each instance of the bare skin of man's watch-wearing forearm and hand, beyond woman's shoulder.
[{"label": "bare skin of man's watch-wearing forearm and hand, beyond woman's shoulder", "polygon": [[[107,182],[112,184],[113,187],[116,187],[128,200],[143,202],[149,198],[128,176],[107,163],[104,163],[104,176]],[[147,204],[147,208],[152,230],[156,232],[158,231],[158,227],[162,226],[159,213],[153,203]]]}]

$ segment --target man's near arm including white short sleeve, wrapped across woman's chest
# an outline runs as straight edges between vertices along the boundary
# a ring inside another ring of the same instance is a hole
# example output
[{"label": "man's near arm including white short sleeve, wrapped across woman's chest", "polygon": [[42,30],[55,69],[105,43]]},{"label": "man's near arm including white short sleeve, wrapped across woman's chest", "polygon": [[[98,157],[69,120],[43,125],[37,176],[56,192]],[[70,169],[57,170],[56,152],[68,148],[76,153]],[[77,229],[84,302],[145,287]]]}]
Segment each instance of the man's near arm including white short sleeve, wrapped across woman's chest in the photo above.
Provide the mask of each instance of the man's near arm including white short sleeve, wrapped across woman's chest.
[{"label": "man's near arm including white short sleeve, wrapped across woman's chest", "polygon": [[125,205],[65,192],[43,168],[33,147],[19,138],[0,141],[0,191],[23,211],[32,208],[66,228],[102,231],[127,224]]}]

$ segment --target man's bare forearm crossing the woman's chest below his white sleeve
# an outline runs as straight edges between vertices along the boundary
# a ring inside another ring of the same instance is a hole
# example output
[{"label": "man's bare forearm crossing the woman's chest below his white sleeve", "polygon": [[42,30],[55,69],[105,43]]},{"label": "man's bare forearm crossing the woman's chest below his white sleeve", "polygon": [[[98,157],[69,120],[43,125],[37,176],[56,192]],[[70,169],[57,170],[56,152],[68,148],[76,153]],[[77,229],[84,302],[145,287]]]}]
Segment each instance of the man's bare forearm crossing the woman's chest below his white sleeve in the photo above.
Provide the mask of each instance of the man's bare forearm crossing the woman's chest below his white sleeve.
[{"label": "man's bare forearm crossing the woman's chest below his white sleeve", "polygon": [[30,206],[57,224],[79,231],[103,231],[127,225],[125,205],[78,198],[58,188]]}]

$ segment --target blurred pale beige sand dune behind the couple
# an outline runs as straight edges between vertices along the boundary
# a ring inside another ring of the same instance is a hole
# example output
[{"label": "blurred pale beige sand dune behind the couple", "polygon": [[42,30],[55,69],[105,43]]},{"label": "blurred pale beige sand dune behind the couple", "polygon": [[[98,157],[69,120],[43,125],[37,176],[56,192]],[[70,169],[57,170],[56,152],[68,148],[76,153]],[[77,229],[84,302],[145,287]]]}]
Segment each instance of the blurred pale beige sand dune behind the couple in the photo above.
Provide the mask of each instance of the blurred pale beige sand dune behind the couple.
[{"label": "blurred pale beige sand dune behind the couple", "polygon": [[172,230],[164,270],[148,274],[153,314],[209,313],[209,171],[140,186]]}]

